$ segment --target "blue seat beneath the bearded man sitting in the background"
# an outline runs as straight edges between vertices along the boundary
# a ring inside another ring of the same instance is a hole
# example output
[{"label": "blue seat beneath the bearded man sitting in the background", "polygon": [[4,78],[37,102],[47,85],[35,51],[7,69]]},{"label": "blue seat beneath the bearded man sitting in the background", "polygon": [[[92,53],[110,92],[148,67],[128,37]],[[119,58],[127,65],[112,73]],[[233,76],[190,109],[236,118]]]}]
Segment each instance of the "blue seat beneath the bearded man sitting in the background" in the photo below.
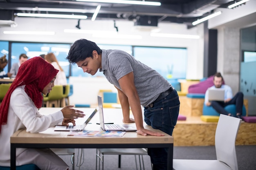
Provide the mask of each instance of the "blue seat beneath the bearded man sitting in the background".
[{"label": "blue seat beneath the bearded man sitting in the background", "polygon": [[[236,115],[236,105],[235,104],[227,105],[225,107],[225,110],[227,110],[227,112],[231,113],[232,115]],[[203,115],[219,116],[220,114],[212,106],[206,106],[204,104]],[[245,105],[243,105],[242,115],[246,116]]]}]

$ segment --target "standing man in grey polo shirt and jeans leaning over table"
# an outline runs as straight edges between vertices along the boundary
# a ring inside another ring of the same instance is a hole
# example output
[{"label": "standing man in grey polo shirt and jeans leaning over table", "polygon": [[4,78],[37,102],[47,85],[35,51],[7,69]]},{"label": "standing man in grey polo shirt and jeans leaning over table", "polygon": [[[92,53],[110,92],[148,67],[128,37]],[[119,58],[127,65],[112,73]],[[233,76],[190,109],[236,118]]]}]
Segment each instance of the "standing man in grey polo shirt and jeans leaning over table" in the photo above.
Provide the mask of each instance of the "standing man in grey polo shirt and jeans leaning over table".
[{"label": "standing man in grey polo shirt and jeans leaning over table", "polygon": [[[180,109],[179,96],[157,71],[125,51],[100,49],[97,44],[85,39],[74,42],[67,60],[91,75],[95,75],[98,69],[103,71],[108,81],[117,88],[123,121],[135,122],[137,134],[163,136],[144,128],[142,105],[146,124],[172,135]],[[134,120],[129,117],[130,108]],[[154,170],[166,170],[167,152],[167,148],[148,148]]]}]

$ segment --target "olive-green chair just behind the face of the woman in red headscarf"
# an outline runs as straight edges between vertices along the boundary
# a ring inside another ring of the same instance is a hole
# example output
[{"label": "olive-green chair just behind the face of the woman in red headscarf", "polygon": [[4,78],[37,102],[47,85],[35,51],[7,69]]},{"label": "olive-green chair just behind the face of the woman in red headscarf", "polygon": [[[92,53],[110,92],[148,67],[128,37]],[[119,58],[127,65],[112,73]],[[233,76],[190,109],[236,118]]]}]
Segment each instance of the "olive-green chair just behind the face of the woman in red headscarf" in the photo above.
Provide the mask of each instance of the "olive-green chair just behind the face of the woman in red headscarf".
[{"label": "olive-green chair just behind the face of the woman in red headscarf", "polygon": [[63,86],[56,85],[48,96],[43,96],[43,102],[46,107],[61,107],[61,99],[63,98]]}]

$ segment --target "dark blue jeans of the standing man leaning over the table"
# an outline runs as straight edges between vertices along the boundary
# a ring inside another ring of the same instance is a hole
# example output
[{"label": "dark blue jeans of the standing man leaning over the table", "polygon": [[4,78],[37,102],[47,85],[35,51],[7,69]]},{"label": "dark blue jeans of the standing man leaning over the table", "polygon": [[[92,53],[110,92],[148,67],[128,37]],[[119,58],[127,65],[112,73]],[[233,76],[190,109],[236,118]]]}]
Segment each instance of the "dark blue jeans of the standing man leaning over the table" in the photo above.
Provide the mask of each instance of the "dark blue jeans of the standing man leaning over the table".
[{"label": "dark blue jeans of the standing man leaning over the table", "polygon": [[[180,110],[180,100],[177,91],[155,103],[153,107],[144,107],[144,121],[154,129],[162,130],[168,135],[173,134]],[[148,148],[153,170],[167,169],[168,148]]]}]

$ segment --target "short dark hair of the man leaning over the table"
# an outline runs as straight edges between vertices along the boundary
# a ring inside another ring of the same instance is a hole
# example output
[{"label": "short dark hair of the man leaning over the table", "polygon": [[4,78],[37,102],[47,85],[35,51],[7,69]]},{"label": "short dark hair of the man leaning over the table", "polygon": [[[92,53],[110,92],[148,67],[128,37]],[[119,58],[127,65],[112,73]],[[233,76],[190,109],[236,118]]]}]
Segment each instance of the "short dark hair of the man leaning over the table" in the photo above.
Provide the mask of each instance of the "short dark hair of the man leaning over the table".
[{"label": "short dark hair of the man leaning over the table", "polygon": [[87,57],[92,57],[92,51],[94,50],[97,51],[98,54],[102,53],[102,50],[95,42],[85,39],[76,40],[70,47],[66,59],[68,62],[75,64],[81,60],[85,60]]}]

